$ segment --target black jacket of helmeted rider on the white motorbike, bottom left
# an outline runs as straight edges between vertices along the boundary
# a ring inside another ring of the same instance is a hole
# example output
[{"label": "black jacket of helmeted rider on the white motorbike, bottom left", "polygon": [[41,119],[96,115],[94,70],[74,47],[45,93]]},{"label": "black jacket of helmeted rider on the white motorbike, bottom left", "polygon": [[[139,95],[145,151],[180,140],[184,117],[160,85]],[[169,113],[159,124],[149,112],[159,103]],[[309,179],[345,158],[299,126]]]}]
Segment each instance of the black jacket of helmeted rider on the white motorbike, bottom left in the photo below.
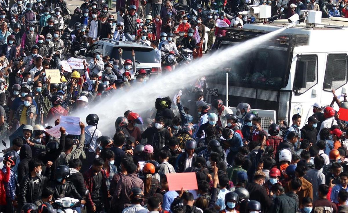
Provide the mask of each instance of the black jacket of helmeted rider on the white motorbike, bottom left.
[{"label": "black jacket of helmeted rider on the white motorbike, bottom left", "polygon": [[54,189],[53,198],[55,199],[63,197],[73,197],[79,200],[83,199],[77,192],[75,186],[69,180],[65,180],[64,184],[61,184],[56,180],[52,180],[49,182],[48,186]]}]

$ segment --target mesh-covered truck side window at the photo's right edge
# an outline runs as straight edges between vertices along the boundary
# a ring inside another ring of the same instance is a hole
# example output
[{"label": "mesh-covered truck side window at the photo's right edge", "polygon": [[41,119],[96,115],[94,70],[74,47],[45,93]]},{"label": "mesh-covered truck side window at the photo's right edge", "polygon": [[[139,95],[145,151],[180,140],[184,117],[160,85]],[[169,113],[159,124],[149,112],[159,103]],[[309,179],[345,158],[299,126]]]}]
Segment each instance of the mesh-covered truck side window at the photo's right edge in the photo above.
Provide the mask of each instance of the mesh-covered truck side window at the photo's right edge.
[{"label": "mesh-covered truck side window at the photo's right edge", "polygon": [[327,56],[324,90],[337,90],[347,83],[347,54],[329,54]]}]

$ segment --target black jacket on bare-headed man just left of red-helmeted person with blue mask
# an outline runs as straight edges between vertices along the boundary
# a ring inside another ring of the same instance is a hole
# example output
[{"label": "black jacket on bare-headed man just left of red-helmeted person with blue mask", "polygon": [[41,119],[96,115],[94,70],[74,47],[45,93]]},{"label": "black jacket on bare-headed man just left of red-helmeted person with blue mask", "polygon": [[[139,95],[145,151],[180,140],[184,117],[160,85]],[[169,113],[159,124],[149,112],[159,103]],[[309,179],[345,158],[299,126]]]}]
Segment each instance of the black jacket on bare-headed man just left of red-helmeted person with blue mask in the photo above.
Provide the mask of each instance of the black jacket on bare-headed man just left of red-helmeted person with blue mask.
[{"label": "black jacket on bare-headed man just left of red-helmeted person with blue mask", "polygon": [[250,194],[250,200],[259,201],[261,203],[261,213],[265,212],[272,204],[272,199],[267,195],[266,188],[251,182],[247,190]]}]

